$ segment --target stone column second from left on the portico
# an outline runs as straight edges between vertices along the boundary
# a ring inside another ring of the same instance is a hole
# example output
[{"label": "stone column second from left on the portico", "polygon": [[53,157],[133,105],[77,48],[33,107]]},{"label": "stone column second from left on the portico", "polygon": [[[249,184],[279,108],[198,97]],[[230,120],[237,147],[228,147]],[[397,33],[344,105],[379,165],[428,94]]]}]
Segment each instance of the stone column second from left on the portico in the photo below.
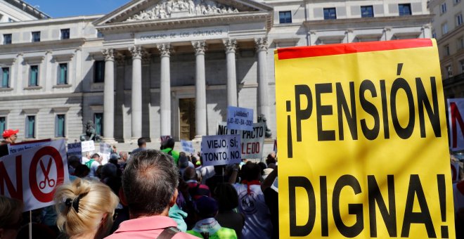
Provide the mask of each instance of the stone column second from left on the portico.
[{"label": "stone column second from left on the portico", "polygon": [[132,54],[131,140],[142,136],[142,51],[140,46],[129,47]]}]

